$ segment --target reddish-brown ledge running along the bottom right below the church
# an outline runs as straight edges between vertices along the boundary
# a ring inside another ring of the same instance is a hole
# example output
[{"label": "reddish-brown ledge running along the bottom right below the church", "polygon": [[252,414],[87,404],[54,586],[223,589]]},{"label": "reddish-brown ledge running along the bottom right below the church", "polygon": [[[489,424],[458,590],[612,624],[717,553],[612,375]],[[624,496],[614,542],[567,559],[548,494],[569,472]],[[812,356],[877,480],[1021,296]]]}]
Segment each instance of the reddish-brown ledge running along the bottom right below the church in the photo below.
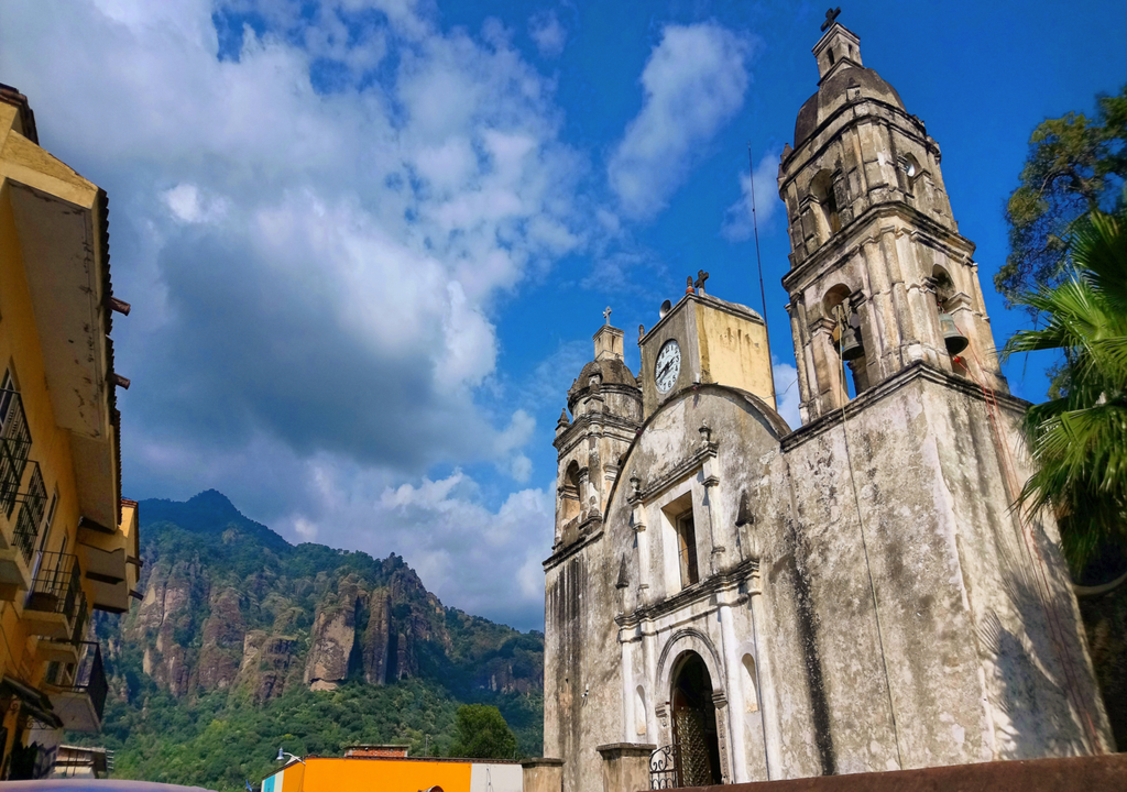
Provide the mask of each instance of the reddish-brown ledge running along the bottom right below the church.
[{"label": "reddish-brown ledge running along the bottom right below the church", "polygon": [[1121,792],[1127,789],[1127,754],[987,762],[693,789],[716,792]]}]

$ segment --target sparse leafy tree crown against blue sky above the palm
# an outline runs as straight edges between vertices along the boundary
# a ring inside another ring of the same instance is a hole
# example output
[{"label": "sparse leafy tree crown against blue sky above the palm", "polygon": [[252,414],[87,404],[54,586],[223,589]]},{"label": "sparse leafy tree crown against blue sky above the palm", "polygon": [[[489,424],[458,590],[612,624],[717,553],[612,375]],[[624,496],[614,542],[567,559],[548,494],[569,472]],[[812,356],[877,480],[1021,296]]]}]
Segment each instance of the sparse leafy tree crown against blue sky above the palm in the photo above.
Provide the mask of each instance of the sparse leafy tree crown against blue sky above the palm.
[{"label": "sparse leafy tree crown against blue sky above the palm", "polygon": [[1010,256],[994,285],[1008,303],[1019,304],[1023,292],[1067,278],[1071,225],[1090,212],[1121,207],[1125,178],[1127,86],[1118,96],[1097,97],[1094,119],[1068,113],[1037,125],[1005,207]]}]

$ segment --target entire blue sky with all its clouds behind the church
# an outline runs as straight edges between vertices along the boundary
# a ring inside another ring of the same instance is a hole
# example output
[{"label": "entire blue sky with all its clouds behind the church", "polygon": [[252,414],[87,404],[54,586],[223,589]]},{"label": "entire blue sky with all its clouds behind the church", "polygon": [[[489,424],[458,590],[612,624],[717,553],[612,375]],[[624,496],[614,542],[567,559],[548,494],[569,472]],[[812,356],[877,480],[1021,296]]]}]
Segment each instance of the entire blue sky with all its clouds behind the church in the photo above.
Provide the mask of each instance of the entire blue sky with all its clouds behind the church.
[{"label": "entire blue sky with all its clouds behind the church", "polygon": [[[292,541],[402,554],[542,625],[551,438],[610,305],[684,278],[793,350],[774,177],[814,92],[808,2],[6,0],[0,81],[110,196],[124,490],[214,487]],[[996,338],[1033,126],[1127,82],[1115,2],[866,2],[841,21],[925,121]],[[627,345],[637,370],[637,347]],[[1042,361],[1008,367],[1037,400]],[[793,388],[781,400],[796,424]]]}]

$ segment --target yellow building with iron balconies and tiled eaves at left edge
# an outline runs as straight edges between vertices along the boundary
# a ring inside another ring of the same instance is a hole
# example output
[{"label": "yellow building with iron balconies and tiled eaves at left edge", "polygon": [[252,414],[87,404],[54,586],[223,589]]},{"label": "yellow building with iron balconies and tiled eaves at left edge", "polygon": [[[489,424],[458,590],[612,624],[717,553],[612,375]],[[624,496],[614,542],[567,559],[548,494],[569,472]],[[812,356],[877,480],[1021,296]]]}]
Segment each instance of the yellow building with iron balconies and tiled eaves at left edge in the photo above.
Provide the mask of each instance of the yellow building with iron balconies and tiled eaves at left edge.
[{"label": "yellow building with iron balconies and tiled eaves at left edge", "polygon": [[121,495],[106,194],[38,145],[0,84],[0,777],[51,772],[97,731],[95,609],[125,612],[141,561]]}]

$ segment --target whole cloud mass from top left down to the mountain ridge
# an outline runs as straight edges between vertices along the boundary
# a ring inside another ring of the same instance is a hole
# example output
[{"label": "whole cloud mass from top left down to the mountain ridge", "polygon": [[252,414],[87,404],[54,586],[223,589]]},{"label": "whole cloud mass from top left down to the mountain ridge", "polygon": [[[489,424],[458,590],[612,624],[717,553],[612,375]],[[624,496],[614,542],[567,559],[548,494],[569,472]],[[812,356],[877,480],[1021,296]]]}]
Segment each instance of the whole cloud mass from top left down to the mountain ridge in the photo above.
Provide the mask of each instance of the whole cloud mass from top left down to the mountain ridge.
[{"label": "whole cloud mass from top left down to the mountain ridge", "polygon": [[535,420],[478,399],[495,303],[596,226],[551,82],[504,29],[442,32],[429,2],[238,8],[266,30],[210,0],[0,10],[5,81],[44,146],[110,196],[115,293],[134,306],[117,359],[140,385],[121,397],[126,492],[215,487],[290,536],[401,553],[450,604],[531,626],[542,596],[508,593],[549,550],[548,490],[490,509],[463,473],[421,477],[533,475]]}]

